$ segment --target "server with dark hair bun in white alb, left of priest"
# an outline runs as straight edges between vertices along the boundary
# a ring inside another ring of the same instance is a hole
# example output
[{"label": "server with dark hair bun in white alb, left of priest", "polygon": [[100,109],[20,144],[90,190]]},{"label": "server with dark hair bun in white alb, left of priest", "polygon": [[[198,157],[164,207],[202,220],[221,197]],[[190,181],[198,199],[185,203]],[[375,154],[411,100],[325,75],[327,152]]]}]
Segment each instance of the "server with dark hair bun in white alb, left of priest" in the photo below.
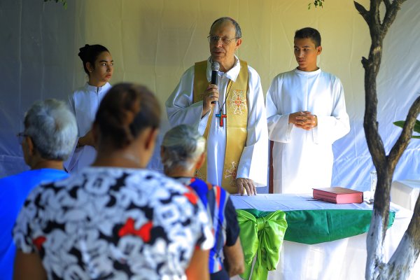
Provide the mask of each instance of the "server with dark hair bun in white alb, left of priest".
[{"label": "server with dark hair bun in white alb, left of priest", "polygon": [[71,110],[76,116],[79,137],[73,154],[64,162],[64,167],[70,173],[92,164],[96,157],[92,123],[99,104],[111,88],[109,80],[113,74],[111,53],[103,45],[85,45],[79,50],[78,56],[89,79],[69,98]]}]

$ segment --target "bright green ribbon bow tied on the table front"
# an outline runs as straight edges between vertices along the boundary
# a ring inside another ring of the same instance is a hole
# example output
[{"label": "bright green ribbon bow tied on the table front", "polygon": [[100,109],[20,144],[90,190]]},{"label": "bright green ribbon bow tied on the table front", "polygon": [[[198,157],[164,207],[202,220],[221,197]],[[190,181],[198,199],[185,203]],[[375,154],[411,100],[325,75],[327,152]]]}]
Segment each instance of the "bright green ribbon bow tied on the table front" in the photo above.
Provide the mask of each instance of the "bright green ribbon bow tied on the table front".
[{"label": "bright green ribbon bow tied on the table front", "polygon": [[245,260],[245,271],[240,276],[249,279],[256,254],[251,279],[267,279],[268,271],[276,269],[279,262],[279,251],[287,229],[286,214],[280,210],[238,209],[237,216]]}]

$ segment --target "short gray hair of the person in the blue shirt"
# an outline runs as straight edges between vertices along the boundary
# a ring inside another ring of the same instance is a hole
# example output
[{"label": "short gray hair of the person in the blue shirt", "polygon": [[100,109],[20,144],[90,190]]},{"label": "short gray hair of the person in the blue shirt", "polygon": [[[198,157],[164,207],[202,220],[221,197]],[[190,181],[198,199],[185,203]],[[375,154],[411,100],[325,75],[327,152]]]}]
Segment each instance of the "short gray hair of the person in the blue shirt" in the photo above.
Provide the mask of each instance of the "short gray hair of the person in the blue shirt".
[{"label": "short gray hair of the person in the blue shirt", "polygon": [[25,113],[25,134],[42,158],[66,160],[76,144],[76,118],[57,99],[35,102]]}]

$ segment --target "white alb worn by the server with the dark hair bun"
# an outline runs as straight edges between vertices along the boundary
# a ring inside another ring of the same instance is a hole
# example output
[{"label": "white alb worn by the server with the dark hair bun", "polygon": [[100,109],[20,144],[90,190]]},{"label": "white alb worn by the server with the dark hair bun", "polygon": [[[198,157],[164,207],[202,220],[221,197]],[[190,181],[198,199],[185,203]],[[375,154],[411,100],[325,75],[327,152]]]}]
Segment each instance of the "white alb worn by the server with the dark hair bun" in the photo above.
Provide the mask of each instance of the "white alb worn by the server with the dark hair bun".
[{"label": "white alb worn by the server with the dark hair bun", "polygon": [[[86,83],[69,97],[70,109],[76,116],[78,137],[85,136],[92,128],[99,104],[110,88],[109,83],[102,87],[95,87]],[[83,167],[91,165],[95,157],[96,150],[92,146],[74,147],[73,153],[64,162],[64,167],[69,173],[75,173]]]}]

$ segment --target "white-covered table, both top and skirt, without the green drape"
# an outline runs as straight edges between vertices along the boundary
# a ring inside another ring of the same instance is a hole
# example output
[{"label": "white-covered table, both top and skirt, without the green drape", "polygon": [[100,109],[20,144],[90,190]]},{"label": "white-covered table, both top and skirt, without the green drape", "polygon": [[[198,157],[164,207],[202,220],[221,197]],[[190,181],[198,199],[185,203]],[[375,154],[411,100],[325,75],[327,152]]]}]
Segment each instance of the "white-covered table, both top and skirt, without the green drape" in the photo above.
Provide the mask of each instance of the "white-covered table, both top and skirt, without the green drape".
[{"label": "white-covered table, both top and skirt, without the green drape", "polygon": [[[372,210],[369,204],[330,204],[314,201],[311,195],[264,194],[255,197],[231,195],[237,209],[260,211],[296,211],[314,209]],[[395,211],[393,226],[388,229],[384,242],[385,259],[391,258],[396,246],[407,229],[412,211],[392,204]],[[286,231],[287,232],[287,231]],[[364,279],[366,262],[366,233],[319,244],[302,244],[283,241],[279,264],[269,272],[268,279]],[[412,270],[410,279],[420,279],[420,262]],[[232,279],[239,279],[239,276]]]}]

